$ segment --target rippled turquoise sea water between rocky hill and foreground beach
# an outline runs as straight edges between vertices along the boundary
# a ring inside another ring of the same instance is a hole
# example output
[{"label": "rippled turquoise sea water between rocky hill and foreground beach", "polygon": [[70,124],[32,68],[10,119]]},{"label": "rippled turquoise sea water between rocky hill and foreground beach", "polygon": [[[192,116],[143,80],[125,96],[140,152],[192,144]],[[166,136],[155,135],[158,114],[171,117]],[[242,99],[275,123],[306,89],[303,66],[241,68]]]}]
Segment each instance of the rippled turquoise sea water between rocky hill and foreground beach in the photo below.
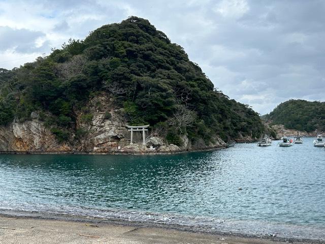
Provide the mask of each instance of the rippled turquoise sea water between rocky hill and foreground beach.
[{"label": "rippled turquoise sea water between rocky hill and foreground beach", "polygon": [[325,239],[325,150],[304,141],[165,156],[0,155],[0,209]]}]

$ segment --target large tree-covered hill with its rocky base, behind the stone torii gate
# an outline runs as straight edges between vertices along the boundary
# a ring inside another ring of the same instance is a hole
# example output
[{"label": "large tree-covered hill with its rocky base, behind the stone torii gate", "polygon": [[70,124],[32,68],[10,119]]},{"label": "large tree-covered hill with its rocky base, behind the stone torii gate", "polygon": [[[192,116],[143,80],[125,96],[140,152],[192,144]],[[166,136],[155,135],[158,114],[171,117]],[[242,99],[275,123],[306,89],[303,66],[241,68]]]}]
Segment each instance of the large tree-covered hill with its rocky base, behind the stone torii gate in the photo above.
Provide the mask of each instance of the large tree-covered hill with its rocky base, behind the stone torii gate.
[{"label": "large tree-covered hill with its rocky base, behind the stone torii gate", "polygon": [[[2,153],[173,153],[251,141],[267,130],[181,46],[133,16],[1,69],[0,83]],[[143,125],[148,131],[130,145],[127,126]]]}]

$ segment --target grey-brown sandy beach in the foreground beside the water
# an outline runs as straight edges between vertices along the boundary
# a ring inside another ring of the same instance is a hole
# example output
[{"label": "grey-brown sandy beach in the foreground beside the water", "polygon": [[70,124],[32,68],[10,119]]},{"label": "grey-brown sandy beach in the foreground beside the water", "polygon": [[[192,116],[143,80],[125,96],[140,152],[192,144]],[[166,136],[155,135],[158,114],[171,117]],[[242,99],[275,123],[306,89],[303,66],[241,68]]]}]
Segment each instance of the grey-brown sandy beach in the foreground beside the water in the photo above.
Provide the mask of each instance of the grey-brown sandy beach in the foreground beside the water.
[{"label": "grey-brown sandy beach in the foreground beside the water", "polygon": [[[2,242],[5,240],[6,242]],[[47,212],[0,212],[0,243],[324,243],[175,224],[123,221]]]}]

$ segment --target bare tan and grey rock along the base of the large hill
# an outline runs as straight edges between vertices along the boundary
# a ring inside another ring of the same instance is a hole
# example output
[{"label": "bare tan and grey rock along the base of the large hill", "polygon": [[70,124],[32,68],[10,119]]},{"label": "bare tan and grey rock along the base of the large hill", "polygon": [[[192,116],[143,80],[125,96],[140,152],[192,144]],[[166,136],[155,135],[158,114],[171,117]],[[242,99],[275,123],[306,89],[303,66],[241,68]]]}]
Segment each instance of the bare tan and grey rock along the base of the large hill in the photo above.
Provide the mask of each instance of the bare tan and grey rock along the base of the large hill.
[{"label": "bare tan and grey rock along the base of the large hill", "polygon": [[[95,104],[101,104],[100,109]],[[99,96],[90,101],[88,114],[91,121],[84,121],[85,112],[75,111],[77,130],[84,131],[82,136],[71,136],[69,142],[59,142],[37,112],[30,114],[31,120],[23,123],[13,122],[7,127],[0,127],[0,151],[17,153],[90,153],[90,154],[147,154],[176,153],[191,149],[206,149],[225,146],[216,138],[215,143],[206,145],[203,141],[191,145],[187,136],[182,136],[182,145],[166,145],[160,137],[147,139],[142,145],[142,132],[134,132],[134,144],[130,145],[131,133],[126,123],[114,110],[110,99]],[[110,111],[110,116],[106,116]],[[148,134],[146,134],[148,137]]]}]

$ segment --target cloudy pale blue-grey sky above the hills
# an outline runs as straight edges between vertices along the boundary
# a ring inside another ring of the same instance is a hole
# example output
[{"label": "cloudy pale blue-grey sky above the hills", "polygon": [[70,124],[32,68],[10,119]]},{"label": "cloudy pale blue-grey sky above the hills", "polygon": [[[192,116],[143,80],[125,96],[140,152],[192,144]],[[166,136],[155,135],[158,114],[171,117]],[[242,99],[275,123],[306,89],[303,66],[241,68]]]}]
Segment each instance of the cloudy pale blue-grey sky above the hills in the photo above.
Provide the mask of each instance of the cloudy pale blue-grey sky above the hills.
[{"label": "cloudy pale blue-grey sky above the hills", "polygon": [[324,101],[324,13],[322,0],[0,0],[0,68],[138,16],[224,94],[266,114],[288,99]]}]

